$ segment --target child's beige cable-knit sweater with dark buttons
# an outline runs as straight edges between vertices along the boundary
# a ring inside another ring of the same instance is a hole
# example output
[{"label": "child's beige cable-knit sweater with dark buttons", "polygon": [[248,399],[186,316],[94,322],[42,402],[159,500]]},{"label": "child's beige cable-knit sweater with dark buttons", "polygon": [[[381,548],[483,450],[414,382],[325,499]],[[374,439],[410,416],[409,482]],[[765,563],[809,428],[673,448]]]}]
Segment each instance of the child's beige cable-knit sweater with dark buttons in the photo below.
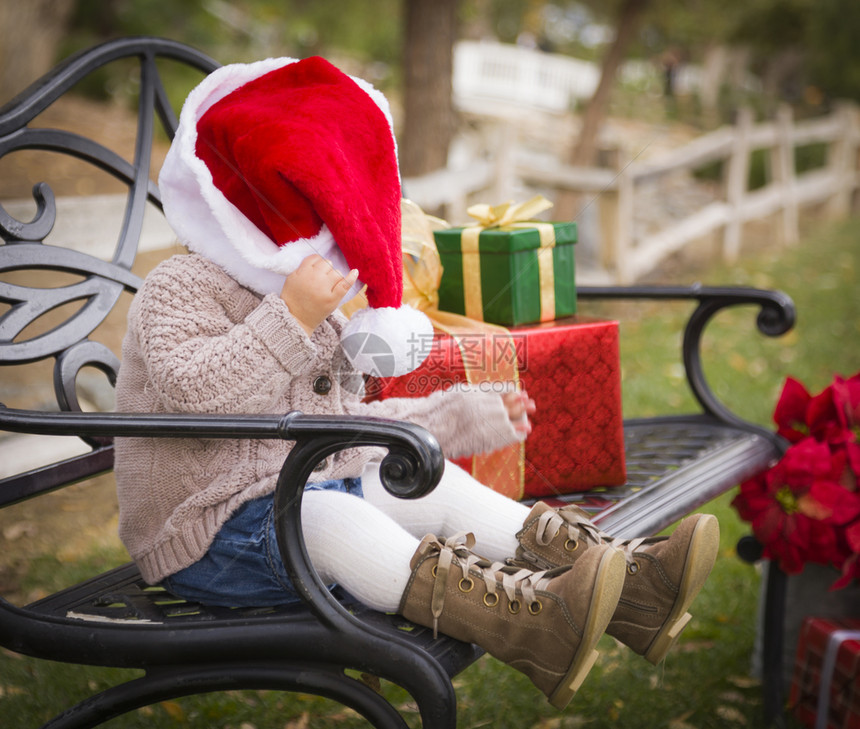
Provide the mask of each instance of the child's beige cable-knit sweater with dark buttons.
[{"label": "child's beige cable-knit sweater with dark buttons", "polygon": [[[518,439],[493,392],[464,388],[363,403],[354,386],[343,387],[344,323],[335,313],[308,337],[278,296],[261,299],[201,256],[174,256],[147,276],[132,302],[117,410],[410,420],[452,458]],[[320,376],[331,382],[324,394],[312,387]],[[119,532],[143,577],[156,583],[200,559],[237,507],[274,490],[290,447],[281,440],[117,438]],[[377,452],[342,451],[315,480],[359,476]]]}]

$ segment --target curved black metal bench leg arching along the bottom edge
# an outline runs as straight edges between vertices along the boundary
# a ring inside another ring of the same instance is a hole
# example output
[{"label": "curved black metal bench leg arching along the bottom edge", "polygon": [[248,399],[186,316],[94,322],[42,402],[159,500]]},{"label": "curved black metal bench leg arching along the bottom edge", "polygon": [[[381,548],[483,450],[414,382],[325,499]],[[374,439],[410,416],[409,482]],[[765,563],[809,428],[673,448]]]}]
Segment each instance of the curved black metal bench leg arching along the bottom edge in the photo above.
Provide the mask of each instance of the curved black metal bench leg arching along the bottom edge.
[{"label": "curved black metal bench leg arching along the bottom edge", "polygon": [[49,721],[42,729],[92,729],[129,711],[160,701],[242,689],[297,691],[323,696],[354,709],[377,729],[407,729],[397,710],[361,681],[330,668],[283,663],[153,670],[141,678],[85,699]]}]

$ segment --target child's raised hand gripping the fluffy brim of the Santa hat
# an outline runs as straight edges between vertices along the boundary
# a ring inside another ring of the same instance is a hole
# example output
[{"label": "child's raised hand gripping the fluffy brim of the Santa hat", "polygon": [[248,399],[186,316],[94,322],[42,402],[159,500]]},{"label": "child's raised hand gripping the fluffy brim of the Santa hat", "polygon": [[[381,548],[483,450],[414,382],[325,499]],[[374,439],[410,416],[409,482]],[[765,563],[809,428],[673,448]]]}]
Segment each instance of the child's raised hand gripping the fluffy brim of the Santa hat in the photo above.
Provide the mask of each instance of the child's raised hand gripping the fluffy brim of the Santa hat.
[{"label": "child's raised hand gripping the fluffy brim of the Santa hat", "polygon": [[287,276],[281,299],[310,336],[357,279],[357,269],[344,277],[322,256],[308,256]]}]

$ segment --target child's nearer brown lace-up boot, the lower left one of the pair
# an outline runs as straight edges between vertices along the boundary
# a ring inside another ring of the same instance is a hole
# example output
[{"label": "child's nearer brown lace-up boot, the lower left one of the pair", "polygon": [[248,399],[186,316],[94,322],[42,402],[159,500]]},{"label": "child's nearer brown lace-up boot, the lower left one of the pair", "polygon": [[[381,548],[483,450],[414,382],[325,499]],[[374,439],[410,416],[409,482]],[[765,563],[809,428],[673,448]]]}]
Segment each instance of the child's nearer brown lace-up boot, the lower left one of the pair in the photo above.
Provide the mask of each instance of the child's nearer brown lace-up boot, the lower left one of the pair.
[{"label": "child's nearer brown lace-up boot, the lower left one of the pair", "polygon": [[[465,542],[463,538],[465,537]],[[428,535],[400,603],[409,620],[475,643],[563,709],[595,659],[624,584],[624,555],[601,545],[575,565],[533,572],[471,551],[472,535]]]}]

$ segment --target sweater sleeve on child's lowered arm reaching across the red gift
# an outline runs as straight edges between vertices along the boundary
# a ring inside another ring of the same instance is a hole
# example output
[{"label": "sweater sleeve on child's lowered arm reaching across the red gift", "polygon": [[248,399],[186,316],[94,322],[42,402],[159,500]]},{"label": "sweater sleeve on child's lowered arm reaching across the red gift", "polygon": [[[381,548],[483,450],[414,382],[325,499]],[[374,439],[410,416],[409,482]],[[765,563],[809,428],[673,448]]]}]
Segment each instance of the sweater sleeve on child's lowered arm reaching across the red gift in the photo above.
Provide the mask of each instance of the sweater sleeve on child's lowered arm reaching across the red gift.
[{"label": "sweater sleeve on child's lowered arm reaching across the red gift", "polygon": [[427,397],[363,402],[355,414],[408,420],[427,428],[446,458],[490,453],[525,439],[518,433],[498,392],[457,385]]}]

